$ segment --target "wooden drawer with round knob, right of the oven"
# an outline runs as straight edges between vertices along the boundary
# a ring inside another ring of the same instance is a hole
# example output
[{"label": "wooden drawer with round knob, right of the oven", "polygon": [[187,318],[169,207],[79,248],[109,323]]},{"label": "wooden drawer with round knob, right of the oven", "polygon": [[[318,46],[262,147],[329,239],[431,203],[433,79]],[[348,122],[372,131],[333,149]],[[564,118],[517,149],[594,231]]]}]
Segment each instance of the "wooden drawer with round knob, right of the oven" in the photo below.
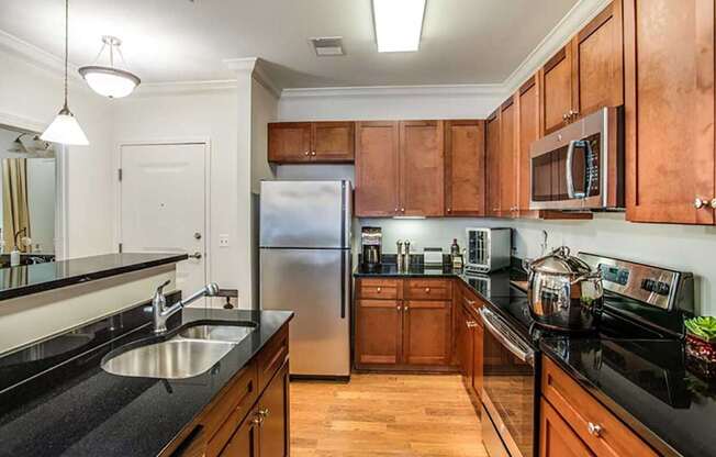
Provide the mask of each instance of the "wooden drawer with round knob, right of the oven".
[{"label": "wooden drawer with round knob, right of the oven", "polygon": [[542,395],[596,456],[658,455],[547,357],[544,358],[541,389]]}]

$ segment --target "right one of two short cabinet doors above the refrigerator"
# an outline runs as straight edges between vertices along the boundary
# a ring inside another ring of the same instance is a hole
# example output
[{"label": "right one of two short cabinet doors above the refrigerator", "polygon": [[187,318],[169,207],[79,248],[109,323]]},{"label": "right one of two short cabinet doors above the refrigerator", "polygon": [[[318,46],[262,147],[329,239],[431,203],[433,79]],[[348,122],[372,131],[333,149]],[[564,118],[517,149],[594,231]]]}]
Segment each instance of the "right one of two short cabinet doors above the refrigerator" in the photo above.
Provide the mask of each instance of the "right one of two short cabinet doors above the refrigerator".
[{"label": "right one of two short cabinet doors above the refrigerator", "polygon": [[350,163],[354,161],[353,122],[314,122],[312,127],[314,161]]}]

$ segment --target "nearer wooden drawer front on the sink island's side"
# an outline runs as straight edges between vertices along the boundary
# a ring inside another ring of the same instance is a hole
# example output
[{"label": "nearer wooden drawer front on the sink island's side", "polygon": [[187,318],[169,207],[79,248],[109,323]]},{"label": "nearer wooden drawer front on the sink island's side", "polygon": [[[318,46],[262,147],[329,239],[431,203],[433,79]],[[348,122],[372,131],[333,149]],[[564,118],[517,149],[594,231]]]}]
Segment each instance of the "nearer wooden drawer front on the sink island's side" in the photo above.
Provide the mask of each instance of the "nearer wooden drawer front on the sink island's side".
[{"label": "nearer wooden drawer front on the sink island's side", "polygon": [[209,438],[205,452],[208,457],[221,453],[257,398],[256,364],[251,363],[224,392],[220,393],[201,421]]}]

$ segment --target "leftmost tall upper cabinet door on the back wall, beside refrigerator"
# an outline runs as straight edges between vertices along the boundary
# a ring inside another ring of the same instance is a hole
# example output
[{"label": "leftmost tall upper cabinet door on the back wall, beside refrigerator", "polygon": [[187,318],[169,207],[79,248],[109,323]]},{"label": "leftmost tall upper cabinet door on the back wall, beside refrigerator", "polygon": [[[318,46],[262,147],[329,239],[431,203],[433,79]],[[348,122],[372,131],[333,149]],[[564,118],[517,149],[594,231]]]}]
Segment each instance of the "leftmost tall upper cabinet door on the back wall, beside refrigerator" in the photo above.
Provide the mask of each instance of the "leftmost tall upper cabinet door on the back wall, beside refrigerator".
[{"label": "leftmost tall upper cabinet door on the back wall, beside refrigerator", "polygon": [[398,122],[356,123],[356,215],[392,216],[399,210]]}]

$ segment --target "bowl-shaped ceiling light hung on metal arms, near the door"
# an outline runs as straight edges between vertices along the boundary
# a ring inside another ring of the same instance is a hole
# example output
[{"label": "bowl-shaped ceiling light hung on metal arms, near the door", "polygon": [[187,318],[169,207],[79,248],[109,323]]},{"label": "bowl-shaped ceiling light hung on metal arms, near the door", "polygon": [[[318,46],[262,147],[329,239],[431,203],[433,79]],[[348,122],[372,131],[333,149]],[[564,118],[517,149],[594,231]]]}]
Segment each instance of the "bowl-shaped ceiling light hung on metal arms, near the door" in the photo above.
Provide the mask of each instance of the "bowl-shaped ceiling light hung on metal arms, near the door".
[{"label": "bowl-shaped ceiling light hung on metal arms, near the door", "polygon": [[[119,99],[128,96],[137,86],[139,86],[141,82],[136,75],[114,66],[115,53],[126,66],[124,56],[120,49],[122,41],[116,36],[102,36],[102,47],[94,59],[94,64],[79,69],[79,74],[82,75],[82,78],[85,78],[93,91],[111,99]],[[109,67],[97,65],[105,48],[109,49]]]}]

